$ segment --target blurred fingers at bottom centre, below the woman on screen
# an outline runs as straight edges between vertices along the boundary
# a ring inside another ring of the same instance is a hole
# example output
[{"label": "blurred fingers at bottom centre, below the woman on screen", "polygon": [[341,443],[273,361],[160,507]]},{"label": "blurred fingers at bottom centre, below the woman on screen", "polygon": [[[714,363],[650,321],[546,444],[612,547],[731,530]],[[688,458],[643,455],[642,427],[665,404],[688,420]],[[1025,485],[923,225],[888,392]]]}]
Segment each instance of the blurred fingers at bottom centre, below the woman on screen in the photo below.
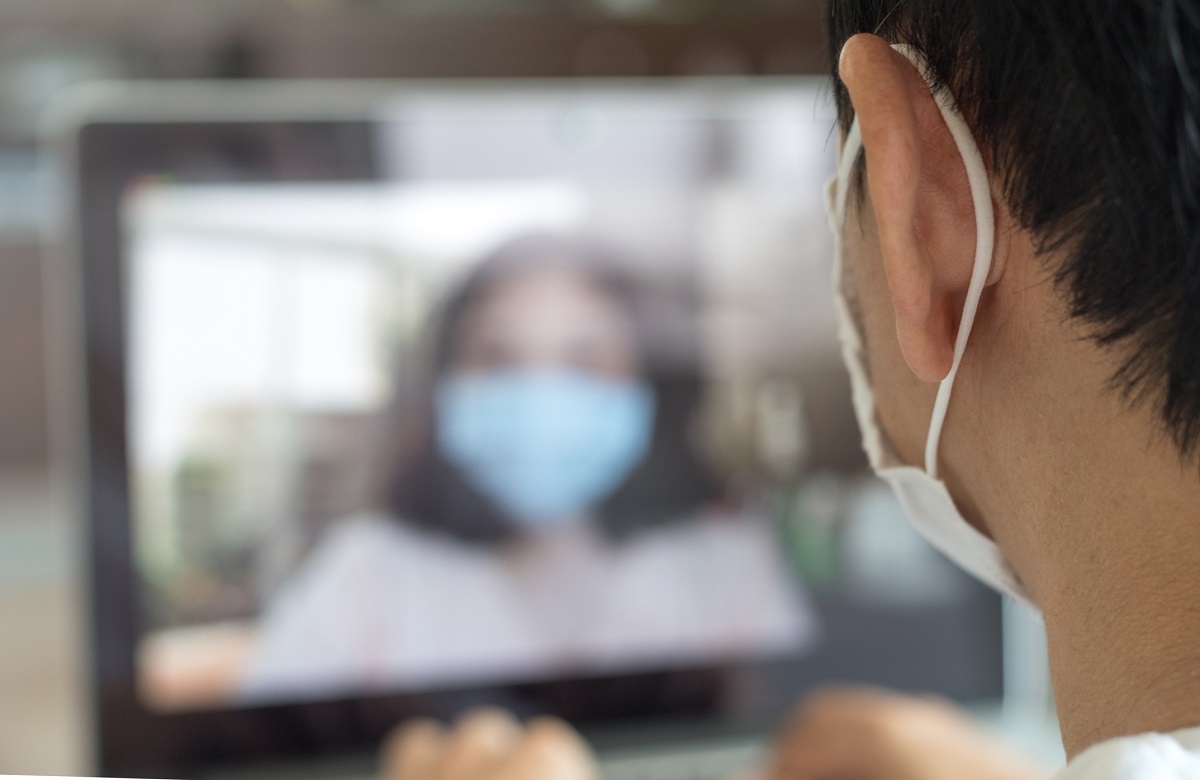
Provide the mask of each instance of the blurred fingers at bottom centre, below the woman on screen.
[{"label": "blurred fingers at bottom centre, below the woman on screen", "polygon": [[468,714],[452,730],[401,724],[384,740],[383,780],[598,780],[595,756],[560,720],[522,726],[498,709]]}]

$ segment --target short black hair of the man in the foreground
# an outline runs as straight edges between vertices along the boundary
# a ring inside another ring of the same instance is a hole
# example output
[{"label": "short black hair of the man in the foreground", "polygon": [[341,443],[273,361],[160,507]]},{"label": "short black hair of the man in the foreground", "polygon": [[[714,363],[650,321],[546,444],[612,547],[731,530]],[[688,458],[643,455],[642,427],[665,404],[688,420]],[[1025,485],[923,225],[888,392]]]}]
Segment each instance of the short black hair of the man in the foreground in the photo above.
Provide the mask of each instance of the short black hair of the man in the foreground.
[{"label": "short black hair of the man in the foreground", "polygon": [[[874,32],[929,60],[1112,389],[1200,455],[1200,1],[830,0],[833,73]],[[842,128],[853,116],[834,79]]]}]

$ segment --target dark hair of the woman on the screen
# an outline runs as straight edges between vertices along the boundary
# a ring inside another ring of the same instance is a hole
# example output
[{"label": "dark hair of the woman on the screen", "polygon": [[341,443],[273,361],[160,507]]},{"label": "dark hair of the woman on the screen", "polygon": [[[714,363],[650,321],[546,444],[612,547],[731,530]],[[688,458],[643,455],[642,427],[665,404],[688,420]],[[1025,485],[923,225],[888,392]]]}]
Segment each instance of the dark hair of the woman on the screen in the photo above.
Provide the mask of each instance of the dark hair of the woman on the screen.
[{"label": "dark hair of the woman on the screen", "polygon": [[[624,484],[596,508],[596,521],[610,539],[682,521],[720,499],[716,482],[697,455],[692,431],[703,403],[698,349],[691,359],[656,359],[648,312],[650,302],[608,248],[583,239],[552,234],[518,238],[481,260],[451,292],[431,320],[425,354],[415,379],[401,361],[386,449],[380,458],[376,504],[400,522],[458,541],[490,545],[517,535],[517,526],[487,496],[475,490],[436,442],[433,395],[455,364],[458,330],[497,287],[530,271],[570,269],[616,301],[629,316],[641,358],[641,374],[655,394],[650,448]],[[678,350],[677,350],[678,352]],[[676,358],[679,355],[677,354]],[[686,356],[686,355],[685,355]]]}]

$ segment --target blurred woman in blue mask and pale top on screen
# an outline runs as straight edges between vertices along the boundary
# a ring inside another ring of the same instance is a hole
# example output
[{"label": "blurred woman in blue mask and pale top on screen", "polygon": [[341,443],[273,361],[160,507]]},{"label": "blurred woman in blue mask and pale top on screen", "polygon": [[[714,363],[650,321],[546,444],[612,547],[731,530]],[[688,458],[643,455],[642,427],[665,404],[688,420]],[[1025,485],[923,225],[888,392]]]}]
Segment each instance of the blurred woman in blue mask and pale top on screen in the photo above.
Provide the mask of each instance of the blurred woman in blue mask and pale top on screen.
[{"label": "blurred woman in blue mask and pale top on screen", "polygon": [[244,697],[710,664],[810,640],[770,524],[722,509],[696,455],[697,350],[649,326],[620,268],[556,236],[475,268],[424,376],[400,373],[377,510],[338,523],[270,605]]}]

